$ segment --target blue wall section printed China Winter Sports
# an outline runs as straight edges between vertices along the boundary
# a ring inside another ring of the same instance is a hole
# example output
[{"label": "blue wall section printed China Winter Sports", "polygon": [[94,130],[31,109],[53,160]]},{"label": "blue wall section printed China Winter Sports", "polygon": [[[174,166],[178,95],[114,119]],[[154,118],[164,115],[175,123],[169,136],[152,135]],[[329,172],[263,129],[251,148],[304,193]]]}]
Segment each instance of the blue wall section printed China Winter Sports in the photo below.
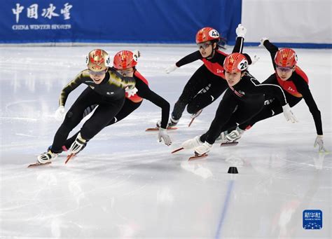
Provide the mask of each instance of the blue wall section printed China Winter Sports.
[{"label": "blue wall section printed China Winter Sports", "polygon": [[[6,0],[0,8],[0,43],[195,43],[198,29],[207,26],[234,43],[241,2]],[[37,14],[32,14],[32,4],[38,4]],[[50,4],[55,7],[53,15]],[[18,7],[24,8],[20,12]]]}]

